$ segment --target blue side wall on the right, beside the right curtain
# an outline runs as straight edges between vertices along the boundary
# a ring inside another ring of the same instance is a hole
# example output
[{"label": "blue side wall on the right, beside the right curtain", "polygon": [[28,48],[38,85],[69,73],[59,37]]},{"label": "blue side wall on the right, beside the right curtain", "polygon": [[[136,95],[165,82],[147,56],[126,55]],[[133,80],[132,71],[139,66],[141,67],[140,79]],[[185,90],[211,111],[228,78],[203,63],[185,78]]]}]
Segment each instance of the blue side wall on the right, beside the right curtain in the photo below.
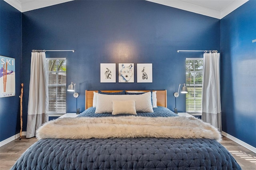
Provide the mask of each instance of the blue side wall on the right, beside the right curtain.
[{"label": "blue side wall on the right, beside the right curtain", "polygon": [[222,130],[256,147],[256,1],[221,20]]}]

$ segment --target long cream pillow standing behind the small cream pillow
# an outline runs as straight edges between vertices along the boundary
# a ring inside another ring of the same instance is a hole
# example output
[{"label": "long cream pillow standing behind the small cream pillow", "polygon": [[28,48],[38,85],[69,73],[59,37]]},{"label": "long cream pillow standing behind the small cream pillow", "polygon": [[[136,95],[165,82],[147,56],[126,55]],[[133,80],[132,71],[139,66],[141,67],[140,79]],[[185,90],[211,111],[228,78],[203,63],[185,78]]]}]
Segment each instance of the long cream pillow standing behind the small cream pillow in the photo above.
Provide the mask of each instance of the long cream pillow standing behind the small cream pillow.
[{"label": "long cream pillow standing behind the small cream pillow", "polygon": [[137,112],[154,112],[151,103],[151,92],[141,95],[97,95],[95,113],[112,113],[112,101],[135,100]]}]

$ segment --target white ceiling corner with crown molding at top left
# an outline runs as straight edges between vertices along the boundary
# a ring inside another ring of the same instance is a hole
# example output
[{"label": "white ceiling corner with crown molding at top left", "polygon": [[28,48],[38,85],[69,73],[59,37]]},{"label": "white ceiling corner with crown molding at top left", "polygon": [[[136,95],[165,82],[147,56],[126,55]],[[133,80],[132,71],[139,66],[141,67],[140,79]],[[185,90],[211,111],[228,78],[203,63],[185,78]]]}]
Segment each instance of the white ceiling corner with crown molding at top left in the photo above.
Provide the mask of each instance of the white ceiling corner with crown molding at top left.
[{"label": "white ceiling corner with crown molding at top left", "polygon": [[27,12],[31,10],[36,10],[39,8],[44,8],[47,6],[52,6],[56,4],[62,4],[65,2],[73,1],[73,0],[31,0],[20,2],[19,0],[4,0],[20,12]]}]

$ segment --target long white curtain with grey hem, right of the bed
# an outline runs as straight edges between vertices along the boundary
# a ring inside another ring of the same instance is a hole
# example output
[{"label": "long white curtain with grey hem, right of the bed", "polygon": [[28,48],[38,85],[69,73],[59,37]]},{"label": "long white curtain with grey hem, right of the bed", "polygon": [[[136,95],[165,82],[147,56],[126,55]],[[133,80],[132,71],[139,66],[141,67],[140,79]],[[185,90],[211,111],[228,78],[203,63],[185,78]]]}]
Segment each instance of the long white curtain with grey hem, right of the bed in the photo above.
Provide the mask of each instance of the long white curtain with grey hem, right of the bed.
[{"label": "long white curtain with grey hem, right of the bed", "polygon": [[221,132],[220,53],[204,53],[202,120]]}]

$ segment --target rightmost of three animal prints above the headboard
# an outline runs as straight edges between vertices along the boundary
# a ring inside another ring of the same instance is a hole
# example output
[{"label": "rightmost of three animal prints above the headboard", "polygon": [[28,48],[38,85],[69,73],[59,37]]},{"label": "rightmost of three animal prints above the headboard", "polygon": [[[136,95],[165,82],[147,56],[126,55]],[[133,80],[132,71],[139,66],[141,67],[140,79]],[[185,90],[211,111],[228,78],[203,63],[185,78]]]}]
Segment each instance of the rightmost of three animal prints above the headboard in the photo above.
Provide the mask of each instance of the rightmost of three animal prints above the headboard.
[{"label": "rightmost of three animal prints above the headboard", "polygon": [[152,63],[137,64],[137,83],[152,83]]}]

